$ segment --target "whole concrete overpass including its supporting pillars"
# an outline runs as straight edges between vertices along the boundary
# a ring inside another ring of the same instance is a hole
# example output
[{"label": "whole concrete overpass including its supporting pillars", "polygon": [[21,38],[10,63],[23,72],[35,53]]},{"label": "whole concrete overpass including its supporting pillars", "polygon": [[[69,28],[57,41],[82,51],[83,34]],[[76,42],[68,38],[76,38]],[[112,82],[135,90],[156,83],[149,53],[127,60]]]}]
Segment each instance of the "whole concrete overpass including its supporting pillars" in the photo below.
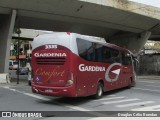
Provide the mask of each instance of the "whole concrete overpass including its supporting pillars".
[{"label": "whole concrete overpass including its supporting pillars", "polygon": [[14,28],[94,35],[138,51],[159,40],[159,12],[128,0],[0,0],[0,73],[8,72]]}]

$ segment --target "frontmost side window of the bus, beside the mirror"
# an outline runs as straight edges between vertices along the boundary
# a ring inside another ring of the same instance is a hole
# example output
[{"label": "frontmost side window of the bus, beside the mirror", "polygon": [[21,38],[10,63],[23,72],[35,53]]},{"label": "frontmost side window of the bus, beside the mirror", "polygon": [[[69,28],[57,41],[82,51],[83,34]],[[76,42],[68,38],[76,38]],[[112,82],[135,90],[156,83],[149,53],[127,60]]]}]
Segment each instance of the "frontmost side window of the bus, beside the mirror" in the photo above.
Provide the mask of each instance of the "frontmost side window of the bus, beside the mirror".
[{"label": "frontmost side window of the bus, beside the mirror", "polygon": [[131,65],[132,64],[131,56],[129,53],[127,53],[127,52],[122,53],[122,64],[123,65]]}]

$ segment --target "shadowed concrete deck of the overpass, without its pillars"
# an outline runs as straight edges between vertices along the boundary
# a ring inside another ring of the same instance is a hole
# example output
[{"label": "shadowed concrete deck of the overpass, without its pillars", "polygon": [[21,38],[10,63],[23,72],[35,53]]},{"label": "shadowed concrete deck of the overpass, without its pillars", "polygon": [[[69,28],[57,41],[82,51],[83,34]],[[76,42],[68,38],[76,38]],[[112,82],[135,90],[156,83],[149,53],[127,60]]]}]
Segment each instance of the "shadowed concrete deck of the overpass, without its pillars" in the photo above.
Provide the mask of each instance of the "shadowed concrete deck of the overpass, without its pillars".
[{"label": "shadowed concrete deck of the overpass, without its pillars", "polygon": [[[111,2],[106,6],[82,0],[0,0],[0,17],[15,9],[16,26],[21,28],[70,31],[105,38],[124,32],[151,31],[150,39],[160,40],[159,16],[146,15],[144,10],[144,14],[129,11],[130,8],[125,10],[123,4],[116,8]],[[149,8],[157,12],[157,8]]]}]

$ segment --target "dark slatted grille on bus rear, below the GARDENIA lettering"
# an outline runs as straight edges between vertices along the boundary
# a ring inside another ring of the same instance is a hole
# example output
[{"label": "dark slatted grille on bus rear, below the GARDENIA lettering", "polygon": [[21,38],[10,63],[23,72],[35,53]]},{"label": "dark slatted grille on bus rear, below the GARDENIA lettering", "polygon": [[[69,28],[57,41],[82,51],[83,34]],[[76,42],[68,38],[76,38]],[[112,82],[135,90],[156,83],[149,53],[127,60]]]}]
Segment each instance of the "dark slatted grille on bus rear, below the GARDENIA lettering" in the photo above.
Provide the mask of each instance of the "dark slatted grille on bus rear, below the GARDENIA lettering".
[{"label": "dark slatted grille on bus rear, below the GARDENIA lettering", "polygon": [[39,65],[64,65],[65,58],[36,58]]}]

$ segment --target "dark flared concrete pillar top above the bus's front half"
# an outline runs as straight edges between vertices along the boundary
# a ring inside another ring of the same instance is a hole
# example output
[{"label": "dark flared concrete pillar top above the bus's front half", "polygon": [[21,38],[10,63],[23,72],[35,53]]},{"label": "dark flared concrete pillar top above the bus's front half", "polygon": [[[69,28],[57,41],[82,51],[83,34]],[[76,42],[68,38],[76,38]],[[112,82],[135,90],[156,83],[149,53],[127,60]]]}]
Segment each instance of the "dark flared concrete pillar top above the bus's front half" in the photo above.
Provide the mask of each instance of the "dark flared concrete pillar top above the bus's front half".
[{"label": "dark flared concrete pillar top above the bus's front half", "polygon": [[110,42],[121,47],[125,47],[132,52],[138,53],[150,37],[151,32],[146,31],[140,34],[128,33],[110,38]]}]

